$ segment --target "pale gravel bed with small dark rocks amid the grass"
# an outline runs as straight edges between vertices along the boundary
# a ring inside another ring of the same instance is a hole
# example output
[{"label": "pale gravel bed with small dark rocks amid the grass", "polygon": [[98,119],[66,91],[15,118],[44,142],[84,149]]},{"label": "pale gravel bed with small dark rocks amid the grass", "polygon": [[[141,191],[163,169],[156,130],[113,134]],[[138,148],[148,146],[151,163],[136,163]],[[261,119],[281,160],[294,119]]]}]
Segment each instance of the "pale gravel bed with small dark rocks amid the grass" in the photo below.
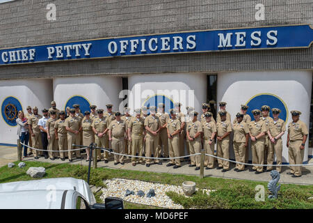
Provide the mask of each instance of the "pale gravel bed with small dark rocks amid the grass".
[{"label": "pale gravel bed with small dark rocks amid the grass", "polygon": [[[184,207],[174,203],[170,197],[166,196],[166,192],[173,191],[178,194],[184,194],[182,190],[182,186],[176,185],[168,185],[161,183],[150,183],[141,180],[127,180],[121,178],[113,178],[112,180],[104,180],[104,184],[106,184],[106,188],[102,188],[102,196],[101,199],[106,197],[119,197],[124,201],[132,202],[132,203],[141,203],[149,206],[158,206],[161,208],[169,208],[169,209],[183,209]],[[134,195],[131,194],[125,197],[126,190],[134,191]],[[155,197],[148,198],[147,192],[150,189],[154,189]],[[145,192],[144,197],[137,196],[138,190],[142,190]],[[197,189],[196,189],[197,190]],[[207,190],[209,194],[210,190]]]}]

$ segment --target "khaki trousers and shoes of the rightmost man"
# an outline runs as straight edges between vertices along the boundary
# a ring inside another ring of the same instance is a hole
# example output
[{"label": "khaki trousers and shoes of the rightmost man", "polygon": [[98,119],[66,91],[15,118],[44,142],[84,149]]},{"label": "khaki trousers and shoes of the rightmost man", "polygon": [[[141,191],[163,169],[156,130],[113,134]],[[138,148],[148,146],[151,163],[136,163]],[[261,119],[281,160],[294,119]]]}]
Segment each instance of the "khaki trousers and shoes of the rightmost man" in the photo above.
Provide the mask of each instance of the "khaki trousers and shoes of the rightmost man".
[{"label": "khaki trousers and shoes of the rightmost man", "polygon": [[[303,164],[304,149],[300,149],[302,140],[289,141],[289,164]],[[302,167],[290,167],[290,172],[296,176],[302,175]]]}]

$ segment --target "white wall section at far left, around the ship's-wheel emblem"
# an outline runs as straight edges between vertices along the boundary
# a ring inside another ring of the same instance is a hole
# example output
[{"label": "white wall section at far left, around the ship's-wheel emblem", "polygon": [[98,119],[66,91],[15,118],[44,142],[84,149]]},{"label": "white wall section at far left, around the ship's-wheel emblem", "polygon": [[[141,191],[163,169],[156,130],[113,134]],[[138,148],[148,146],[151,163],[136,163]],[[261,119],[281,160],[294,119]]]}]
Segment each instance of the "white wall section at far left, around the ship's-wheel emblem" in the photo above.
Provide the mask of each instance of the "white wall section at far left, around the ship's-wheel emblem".
[{"label": "white wall section at far left, around the ship's-wheel emblem", "polygon": [[[23,112],[26,107],[37,106],[39,114],[42,109],[49,108],[52,95],[51,79],[17,79],[0,81],[0,102],[12,96],[17,98],[22,105]],[[8,125],[1,116],[0,118],[0,143],[17,144],[17,126]]]}]

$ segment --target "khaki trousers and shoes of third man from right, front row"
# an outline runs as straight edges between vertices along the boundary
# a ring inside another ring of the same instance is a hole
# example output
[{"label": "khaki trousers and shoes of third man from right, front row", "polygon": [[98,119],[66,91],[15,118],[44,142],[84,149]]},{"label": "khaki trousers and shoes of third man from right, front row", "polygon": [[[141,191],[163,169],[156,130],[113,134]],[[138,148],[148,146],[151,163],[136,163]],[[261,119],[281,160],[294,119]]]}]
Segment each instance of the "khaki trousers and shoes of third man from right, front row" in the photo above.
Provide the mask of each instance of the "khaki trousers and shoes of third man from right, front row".
[{"label": "khaki trousers and shoes of third man from right, front row", "polygon": [[[251,141],[252,164],[264,164],[264,140]],[[263,167],[253,166],[252,169],[262,172]]]}]

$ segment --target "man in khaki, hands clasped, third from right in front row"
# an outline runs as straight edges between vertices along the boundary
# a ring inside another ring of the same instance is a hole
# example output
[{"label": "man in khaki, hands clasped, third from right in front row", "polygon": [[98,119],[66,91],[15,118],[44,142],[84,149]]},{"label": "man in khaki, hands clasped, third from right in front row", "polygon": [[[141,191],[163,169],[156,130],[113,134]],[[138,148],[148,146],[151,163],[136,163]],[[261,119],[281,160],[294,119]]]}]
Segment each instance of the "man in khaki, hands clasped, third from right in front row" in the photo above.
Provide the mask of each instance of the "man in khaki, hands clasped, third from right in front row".
[{"label": "man in khaki, hands clasped, third from right in front row", "polygon": [[[264,164],[264,136],[267,131],[266,124],[260,119],[261,111],[252,110],[254,121],[250,121],[249,130],[251,138],[252,164]],[[255,171],[255,174],[263,172],[262,166],[253,166],[249,171]]]}]

